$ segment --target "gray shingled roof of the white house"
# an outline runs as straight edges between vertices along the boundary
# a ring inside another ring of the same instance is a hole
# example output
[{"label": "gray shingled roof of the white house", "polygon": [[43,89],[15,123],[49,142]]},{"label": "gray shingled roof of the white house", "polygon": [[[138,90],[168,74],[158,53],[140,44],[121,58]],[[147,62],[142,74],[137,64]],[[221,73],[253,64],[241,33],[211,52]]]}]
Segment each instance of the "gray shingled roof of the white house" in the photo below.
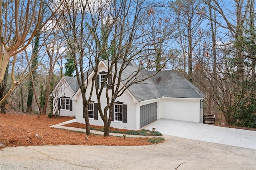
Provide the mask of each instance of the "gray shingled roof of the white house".
[{"label": "gray shingled roof of the white house", "polygon": [[[108,65],[107,62],[108,61],[104,61],[106,65]],[[118,69],[120,69],[120,67],[121,63],[118,63]],[[126,69],[122,72],[122,83],[126,83],[125,79],[127,79],[137,70],[138,65],[136,65],[134,62],[129,63]],[[91,73],[91,71],[92,70],[89,70],[88,73]],[[143,78],[146,76],[151,76],[155,73],[156,71],[144,71],[140,74],[140,77]],[[85,76],[87,76],[87,74],[85,74]],[[76,91],[79,89],[76,77],[64,78],[76,93]],[[146,79],[142,83],[132,84],[130,87],[128,87],[128,90],[138,101],[157,99],[163,96],[195,99],[202,99],[205,97],[205,95],[201,93],[197,87],[195,87],[192,83],[190,83],[190,81],[176,71],[160,71],[158,74]]]}]

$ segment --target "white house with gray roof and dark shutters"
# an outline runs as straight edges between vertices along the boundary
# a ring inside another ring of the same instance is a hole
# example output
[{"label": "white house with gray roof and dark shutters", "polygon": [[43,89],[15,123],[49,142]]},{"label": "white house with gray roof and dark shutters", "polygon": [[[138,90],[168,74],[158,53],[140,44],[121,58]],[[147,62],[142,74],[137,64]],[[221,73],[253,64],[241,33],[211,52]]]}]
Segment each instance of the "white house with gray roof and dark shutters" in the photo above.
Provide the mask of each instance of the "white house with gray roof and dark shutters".
[{"label": "white house with gray roof and dark shutters", "polygon": [[[133,62],[129,63],[123,71],[122,79],[137,69],[138,65]],[[98,84],[101,84],[100,80],[105,78],[104,76],[108,71],[107,61],[100,61],[98,70]],[[91,70],[87,73],[88,77],[86,74],[85,83],[91,87],[94,73]],[[154,73],[154,71],[143,72],[145,76],[154,75]],[[87,91],[86,96],[89,93],[90,91]],[[97,109],[98,102],[95,89],[92,94],[91,103],[88,106],[90,124],[103,126]],[[76,122],[85,123],[82,96],[76,77],[62,77],[52,95],[59,98],[60,115],[75,116]],[[116,99],[111,126],[138,130],[160,118],[202,123],[204,97],[205,95],[198,88],[176,71],[160,71],[143,83],[131,85],[122,96]],[[102,107],[105,107],[105,95],[102,95],[100,100]]]}]

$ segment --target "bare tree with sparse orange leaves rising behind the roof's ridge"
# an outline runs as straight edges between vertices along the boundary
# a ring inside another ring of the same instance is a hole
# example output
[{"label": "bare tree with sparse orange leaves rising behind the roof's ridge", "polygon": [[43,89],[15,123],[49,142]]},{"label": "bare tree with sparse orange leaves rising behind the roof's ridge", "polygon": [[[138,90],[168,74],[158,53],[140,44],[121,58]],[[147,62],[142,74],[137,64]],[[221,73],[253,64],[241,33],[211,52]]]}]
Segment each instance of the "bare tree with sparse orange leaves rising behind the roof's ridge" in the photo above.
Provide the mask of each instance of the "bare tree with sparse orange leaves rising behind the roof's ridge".
[{"label": "bare tree with sparse orange leaves rising behind the roof's ridge", "polygon": [[155,4],[154,8],[148,10],[147,24],[142,26],[142,31],[148,32],[143,39],[152,41],[154,46],[154,53],[145,53],[146,61],[143,61],[149,70],[162,69],[162,65],[169,58],[170,40],[174,38],[170,33],[175,32],[176,21],[169,14],[167,6],[164,3]]}]

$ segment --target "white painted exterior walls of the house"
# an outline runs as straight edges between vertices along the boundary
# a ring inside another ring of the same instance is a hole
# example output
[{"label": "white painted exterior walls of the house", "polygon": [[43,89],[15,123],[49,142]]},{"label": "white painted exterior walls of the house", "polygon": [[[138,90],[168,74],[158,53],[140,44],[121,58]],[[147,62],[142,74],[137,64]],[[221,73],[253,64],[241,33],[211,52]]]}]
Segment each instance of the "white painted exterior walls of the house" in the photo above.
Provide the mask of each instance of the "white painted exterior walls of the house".
[{"label": "white painted exterior walls of the house", "polygon": [[[102,71],[105,71],[105,72],[108,71],[103,64],[101,64],[98,69],[98,72],[102,72]],[[90,87],[92,85],[92,76],[88,77],[88,82],[89,82],[87,85],[88,91],[86,91],[87,99],[90,94]],[[69,91],[70,89],[66,88],[65,90],[66,90],[66,94],[70,93]],[[111,99],[111,90],[109,90],[108,92],[109,92],[108,95]],[[85,124],[85,120],[83,118],[83,113],[82,113],[81,91],[78,90],[78,93],[72,99],[73,99],[72,113],[75,113],[76,115],[76,122]],[[91,101],[98,103],[95,87],[92,93]],[[112,121],[111,127],[115,127],[115,128],[132,129],[132,130],[140,129],[140,106],[146,105],[149,103],[154,103],[154,102],[158,102],[157,119],[164,118],[164,119],[174,119],[174,120],[181,120],[181,121],[200,122],[200,116],[202,117],[202,113],[200,115],[199,99],[160,98],[160,99],[142,101],[138,103],[138,101],[136,101],[136,99],[134,99],[128,91],[125,91],[121,97],[118,97],[118,99],[116,99],[116,101],[123,102],[124,105],[127,105],[127,123],[119,123],[119,122]],[[100,98],[100,102],[101,102],[102,111],[104,111],[104,107],[106,106],[105,90],[102,91],[102,97]],[[64,111],[62,112],[62,114],[65,114]],[[98,120],[90,119],[90,125],[98,125],[98,126],[104,125],[99,112],[98,112]]]}]

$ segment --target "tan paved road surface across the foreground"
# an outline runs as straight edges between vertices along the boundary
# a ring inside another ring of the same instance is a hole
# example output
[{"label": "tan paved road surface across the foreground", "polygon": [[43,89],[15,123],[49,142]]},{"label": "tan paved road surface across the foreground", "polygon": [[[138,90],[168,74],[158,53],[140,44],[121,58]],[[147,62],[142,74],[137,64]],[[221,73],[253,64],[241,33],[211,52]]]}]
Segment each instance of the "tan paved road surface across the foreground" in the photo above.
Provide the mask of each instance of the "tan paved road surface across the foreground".
[{"label": "tan paved road surface across the foreground", "polygon": [[28,146],[0,151],[0,169],[256,169],[256,150],[164,135],[148,146]]}]

